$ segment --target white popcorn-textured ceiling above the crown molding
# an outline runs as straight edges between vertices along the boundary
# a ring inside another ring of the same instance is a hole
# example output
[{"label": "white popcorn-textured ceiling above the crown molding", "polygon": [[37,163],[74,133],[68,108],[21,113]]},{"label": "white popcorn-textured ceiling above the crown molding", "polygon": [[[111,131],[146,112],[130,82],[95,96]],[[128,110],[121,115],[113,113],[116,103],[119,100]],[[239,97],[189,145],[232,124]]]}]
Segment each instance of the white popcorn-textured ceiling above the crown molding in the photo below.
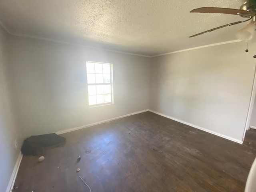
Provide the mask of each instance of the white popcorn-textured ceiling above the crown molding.
[{"label": "white popcorn-textured ceiling above the crown molding", "polygon": [[239,8],[242,0],[0,0],[0,21],[11,34],[34,36],[147,56],[236,39],[244,20],[190,13],[202,6]]}]

